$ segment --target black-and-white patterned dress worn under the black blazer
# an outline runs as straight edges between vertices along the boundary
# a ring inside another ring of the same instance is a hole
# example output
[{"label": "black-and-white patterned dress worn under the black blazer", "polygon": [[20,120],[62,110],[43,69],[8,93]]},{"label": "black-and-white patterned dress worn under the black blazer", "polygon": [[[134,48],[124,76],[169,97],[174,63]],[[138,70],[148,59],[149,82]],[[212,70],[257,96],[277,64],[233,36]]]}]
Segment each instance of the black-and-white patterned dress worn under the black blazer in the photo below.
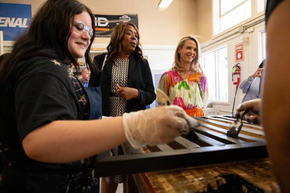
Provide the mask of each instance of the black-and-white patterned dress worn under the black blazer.
[{"label": "black-and-white patterned dress worn under the black blazer", "polygon": [[[115,93],[118,89],[116,87],[119,84],[120,87],[127,87],[127,75],[128,75],[129,59],[116,59],[112,67],[112,80],[111,80],[111,93]],[[121,99],[118,96],[110,96],[110,116],[122,116],[126,111],[127,101]],[[123,155],[121,145],[111,149],[113,156]],[[124,175],[116,175],[105,177],[108,183],[123,183]]]}]

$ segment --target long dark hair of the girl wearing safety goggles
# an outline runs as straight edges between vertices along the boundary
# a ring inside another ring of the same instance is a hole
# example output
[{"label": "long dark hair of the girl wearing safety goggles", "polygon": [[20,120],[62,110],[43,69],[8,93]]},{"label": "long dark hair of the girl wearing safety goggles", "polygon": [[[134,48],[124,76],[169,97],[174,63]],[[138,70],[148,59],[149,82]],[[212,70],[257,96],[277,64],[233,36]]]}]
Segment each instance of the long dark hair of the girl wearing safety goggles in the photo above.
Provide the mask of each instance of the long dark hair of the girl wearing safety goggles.
[{"label": "long dark hair of the girl wearing safety goggles", "polygon": [[[92,28],[95,29],[95,16],[84,4],[76,0],[48,0],[43,3],[34,15],[27,32],[18,37],[11,54],[2,61],[0,83],[5,81],[18,62],[36,56],[58,59],[65,65],[74,65],[79,71],[77,61],[69,52],[67,43],[73,30],[74,16],[83,11],[89,13]],[[85,52],[86,65],[90,69],[94,69],[89,57],[94,37],[95,31]]]}]

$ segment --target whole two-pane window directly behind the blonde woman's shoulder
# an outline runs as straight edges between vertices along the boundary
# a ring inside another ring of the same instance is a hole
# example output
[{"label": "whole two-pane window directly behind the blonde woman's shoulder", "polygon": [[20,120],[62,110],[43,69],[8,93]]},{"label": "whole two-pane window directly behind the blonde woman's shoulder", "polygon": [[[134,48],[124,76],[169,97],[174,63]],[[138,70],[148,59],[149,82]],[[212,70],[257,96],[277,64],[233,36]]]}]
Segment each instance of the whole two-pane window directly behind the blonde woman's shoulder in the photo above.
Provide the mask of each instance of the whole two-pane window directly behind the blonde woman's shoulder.
[{"label": "whole two-pane window directly behind the blonde woman's shoulder", "polygon": [[202,54],[201,59],[209,100],[228,101],[227,46]]}]

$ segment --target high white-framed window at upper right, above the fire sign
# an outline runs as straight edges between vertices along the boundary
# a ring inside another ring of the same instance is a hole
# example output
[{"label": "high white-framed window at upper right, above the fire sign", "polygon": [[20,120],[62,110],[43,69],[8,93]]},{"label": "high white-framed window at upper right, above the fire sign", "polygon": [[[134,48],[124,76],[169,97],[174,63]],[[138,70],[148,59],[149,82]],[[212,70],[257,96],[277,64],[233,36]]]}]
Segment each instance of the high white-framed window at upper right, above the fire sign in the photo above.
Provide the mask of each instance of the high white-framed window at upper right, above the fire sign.
[{"label": "high white-framed window at upper right, above the fire sign", "polygon": [[265,10],[266,0],[212,0],[213,33],[217,35]]}]

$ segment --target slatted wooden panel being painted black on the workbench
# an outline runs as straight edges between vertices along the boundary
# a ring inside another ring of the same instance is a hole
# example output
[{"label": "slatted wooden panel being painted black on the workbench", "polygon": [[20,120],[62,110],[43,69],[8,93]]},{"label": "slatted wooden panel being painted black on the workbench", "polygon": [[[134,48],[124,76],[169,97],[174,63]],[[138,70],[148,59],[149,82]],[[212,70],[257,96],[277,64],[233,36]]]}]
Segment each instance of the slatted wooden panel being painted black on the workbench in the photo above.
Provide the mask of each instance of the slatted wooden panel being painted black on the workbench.
[{"label": "slatted wooden panel being painted black on the workbench", "polygon": [[146,146],[148,149],[135,150],[125,144],[126,155],[97,157],[95,172],[99,176],[111,176],[268,157],[262,129],[243,127],[235,139],[226,136],[230,124],[224,122],[232,121],[227,121],[227,117],[221,118],[226,121],[212,116],[196,119],[200,122],[200,127],[193,128],[198,135],[196,141],[182,135],[169,144]]}]

